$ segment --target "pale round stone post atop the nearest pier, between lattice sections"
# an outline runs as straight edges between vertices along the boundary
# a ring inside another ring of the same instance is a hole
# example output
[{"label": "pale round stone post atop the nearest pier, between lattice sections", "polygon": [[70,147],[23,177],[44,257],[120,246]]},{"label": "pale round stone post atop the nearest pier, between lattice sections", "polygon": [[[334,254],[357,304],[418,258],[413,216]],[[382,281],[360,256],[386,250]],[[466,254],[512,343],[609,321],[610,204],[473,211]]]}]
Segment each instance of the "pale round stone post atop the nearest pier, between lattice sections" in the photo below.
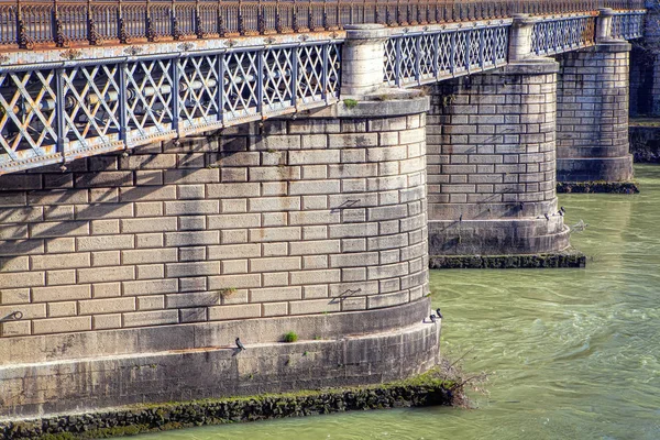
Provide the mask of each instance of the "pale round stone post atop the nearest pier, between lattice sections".
[{"label": "pale round stone post atop the nearest pier, between lattice sections", "polygon": [[382,24],[349,24],[341,57],[341,95],[364,96],[383,87],[385,41]]}]

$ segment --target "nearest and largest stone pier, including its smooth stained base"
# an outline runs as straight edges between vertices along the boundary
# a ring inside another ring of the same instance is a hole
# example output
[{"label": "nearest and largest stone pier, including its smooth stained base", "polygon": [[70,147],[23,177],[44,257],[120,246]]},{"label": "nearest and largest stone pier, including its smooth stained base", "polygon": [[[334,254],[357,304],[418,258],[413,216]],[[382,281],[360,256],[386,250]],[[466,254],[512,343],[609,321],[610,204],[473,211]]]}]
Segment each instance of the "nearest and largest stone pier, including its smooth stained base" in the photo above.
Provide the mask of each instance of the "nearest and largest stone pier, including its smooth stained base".
[{"label": "nearest and largest stone pier, including its smooth stained base", "polygon": [[0,177],[0,418],[433,366],[427,109],[339,103]]}]

